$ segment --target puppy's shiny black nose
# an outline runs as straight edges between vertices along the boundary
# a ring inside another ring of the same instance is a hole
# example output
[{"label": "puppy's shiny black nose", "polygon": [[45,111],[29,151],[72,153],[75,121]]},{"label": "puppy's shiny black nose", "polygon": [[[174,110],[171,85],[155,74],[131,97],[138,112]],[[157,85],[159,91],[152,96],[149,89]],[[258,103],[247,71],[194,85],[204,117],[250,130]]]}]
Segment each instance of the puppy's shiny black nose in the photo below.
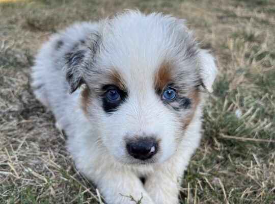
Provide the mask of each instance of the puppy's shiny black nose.
[{"label": "puppy's shiny black nose", "polygon": [[140,138],[130,140],[126,147],[133,158],[147,160],[156,154],[158,143],[154,138]]}]

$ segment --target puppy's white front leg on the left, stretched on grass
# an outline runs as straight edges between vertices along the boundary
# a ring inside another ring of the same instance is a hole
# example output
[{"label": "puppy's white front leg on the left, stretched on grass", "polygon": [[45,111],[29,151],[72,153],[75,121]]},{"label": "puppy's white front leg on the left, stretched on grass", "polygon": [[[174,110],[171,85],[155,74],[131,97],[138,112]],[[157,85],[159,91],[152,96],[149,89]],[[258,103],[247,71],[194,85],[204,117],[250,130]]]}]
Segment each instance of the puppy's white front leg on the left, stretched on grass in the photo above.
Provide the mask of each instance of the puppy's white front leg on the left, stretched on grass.
[{"label": "puppy's white front leg on the left, stretched on grass", "polygon": [[97,185],[108,204],[154,204],[140,179],[132,172],[109,169],[97,176]]}]

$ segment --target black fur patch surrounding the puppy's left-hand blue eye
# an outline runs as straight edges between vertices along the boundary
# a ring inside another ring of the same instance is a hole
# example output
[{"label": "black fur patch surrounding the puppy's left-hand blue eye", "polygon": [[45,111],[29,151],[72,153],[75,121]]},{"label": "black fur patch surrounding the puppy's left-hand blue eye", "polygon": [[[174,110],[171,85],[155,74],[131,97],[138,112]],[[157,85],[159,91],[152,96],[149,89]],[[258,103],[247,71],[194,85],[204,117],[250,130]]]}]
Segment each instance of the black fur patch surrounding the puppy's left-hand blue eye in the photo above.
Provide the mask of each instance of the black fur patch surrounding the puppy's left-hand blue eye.
[{"label": "black fur patch surrounding the puppy's left-hand blue eye", "polygon": [[[107,91],[110,89],[116,89],[118,93],[120,94],[121,100],[120,101],[109,101],[106,94]],[[113,85],[105,85],[102,87],[102,90],[104,91],[104,94],[102,95],[102,108],[106,113],[112,113],[116,110],[118,110],[119,106],[125,102],[128,93],[127,91],[121,90],[116,86]]]}]

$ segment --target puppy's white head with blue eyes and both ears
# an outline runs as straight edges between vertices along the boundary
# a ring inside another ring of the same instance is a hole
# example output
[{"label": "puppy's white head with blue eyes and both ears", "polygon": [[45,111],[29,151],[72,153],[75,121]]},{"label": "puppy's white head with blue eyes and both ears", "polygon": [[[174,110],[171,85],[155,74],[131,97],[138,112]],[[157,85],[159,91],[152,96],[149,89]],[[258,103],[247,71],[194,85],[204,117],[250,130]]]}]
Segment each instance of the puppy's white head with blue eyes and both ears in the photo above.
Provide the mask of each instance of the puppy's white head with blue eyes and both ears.
[{"label": "puppy's white head with blue eyes and both ears", "polygon": [[67,55],[71,92],[85,84],[81,108],[116,159],[162,162],[197,137],[185,131],[202,87],[212,91],[214,60],[172,16],[130,11],[99,28]]}]

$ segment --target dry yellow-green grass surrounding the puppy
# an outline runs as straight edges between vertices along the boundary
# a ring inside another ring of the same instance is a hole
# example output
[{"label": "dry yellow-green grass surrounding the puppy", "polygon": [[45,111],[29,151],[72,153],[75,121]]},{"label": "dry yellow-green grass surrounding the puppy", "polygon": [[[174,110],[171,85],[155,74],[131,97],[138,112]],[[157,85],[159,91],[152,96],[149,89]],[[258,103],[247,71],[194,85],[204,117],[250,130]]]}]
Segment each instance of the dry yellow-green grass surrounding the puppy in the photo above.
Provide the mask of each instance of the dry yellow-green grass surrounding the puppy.
[{"label": "dry yellow-green grass surrounding the puppy", "polygon": [[274,203],[271,0],[0,3],[0,203],[101,202],[93,185],[74,168],[53,116],[34,98],[30,66],[54,31],[125,8],[185,18],[219,67],[204,109],[203,139],[185,171],[181,203]]}]

